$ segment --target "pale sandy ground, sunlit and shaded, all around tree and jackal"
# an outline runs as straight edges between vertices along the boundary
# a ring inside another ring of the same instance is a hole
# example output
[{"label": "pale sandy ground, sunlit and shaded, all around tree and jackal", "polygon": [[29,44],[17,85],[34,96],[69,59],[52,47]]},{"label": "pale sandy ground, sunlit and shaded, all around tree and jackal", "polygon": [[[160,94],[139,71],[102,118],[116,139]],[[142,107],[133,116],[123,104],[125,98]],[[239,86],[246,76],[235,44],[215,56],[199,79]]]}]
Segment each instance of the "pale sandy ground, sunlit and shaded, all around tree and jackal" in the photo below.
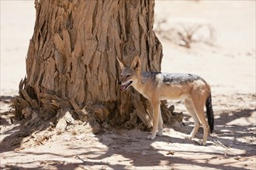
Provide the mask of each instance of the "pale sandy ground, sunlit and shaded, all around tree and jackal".
[{"label": "pale sandy ground, sunlit and shaded, all around tree and jackal", "polygon": [[[1,1],[1,169],[256,169],[254,1],[156,1],[155,22],[197,20],[216,32],[213,46],[192,43],[185,49],[159,35],[164,47],[163,72],[196,73],[213,91],[215,131],[206,146],[198,145],[202,129],[192,141],[192,118],[164,127],[164,135],[147,140],[147,131],[107,128],[100,134],[84,133],[81,125],[57,135],[53,128],[19,136],[12,124],[9,100],[17,94],[25,75],[25,56],[33,34],[33,2]],[[15,12],[14,12],[15,11]],[[176,23],[177,24],[177,23]],[[21,33],[22,32],[22,33]]]}]

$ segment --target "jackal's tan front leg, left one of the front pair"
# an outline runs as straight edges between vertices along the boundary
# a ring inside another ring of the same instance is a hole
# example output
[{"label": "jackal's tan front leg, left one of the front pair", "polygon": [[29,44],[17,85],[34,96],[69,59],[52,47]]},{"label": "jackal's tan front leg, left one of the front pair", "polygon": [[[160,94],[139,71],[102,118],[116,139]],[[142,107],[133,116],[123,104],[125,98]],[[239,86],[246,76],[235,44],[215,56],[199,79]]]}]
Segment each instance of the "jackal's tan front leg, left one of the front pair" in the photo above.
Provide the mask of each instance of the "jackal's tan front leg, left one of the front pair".
[{"label": "jackal's tan front leg, left one of the front pair", "polygon": [[159,123],[159,113],[160,113],[160,102],[152,103],[153,107],[153,130],[152,134],[148,135],[147,138],[153,140],[156,138],[158,123]]}]

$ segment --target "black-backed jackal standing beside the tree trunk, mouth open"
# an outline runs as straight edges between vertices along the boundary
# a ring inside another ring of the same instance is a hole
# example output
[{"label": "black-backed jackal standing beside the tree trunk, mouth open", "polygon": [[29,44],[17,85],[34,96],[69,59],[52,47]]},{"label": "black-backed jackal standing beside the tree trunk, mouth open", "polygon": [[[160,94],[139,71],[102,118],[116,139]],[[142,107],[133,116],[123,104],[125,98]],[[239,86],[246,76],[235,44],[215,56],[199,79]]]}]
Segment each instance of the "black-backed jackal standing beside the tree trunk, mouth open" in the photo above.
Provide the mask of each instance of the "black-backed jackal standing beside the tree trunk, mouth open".
[{"label": "black-backed jackal standing beside the tree trunk, mouth open", "polygon": [[[152,104],[153,130],[147,138],[154,139],[156,135],[162,135],[163,120],[160,101],[184,100],[185,107],[195,122],[193,130],[187,138],[194,138],[200,124],[202,124],[203,138],[199,143],[206,145],[209,131],[213,131],[214,119],[211,90],[205,80],[189,73],[141,72],[139,56],[133,59],[131,66],[126,66],[121,59],[116,58],[122,70],[119,80],[121,90],[133,86]],[[206,106],[208,123],[204,114],[204,106]]]}]

